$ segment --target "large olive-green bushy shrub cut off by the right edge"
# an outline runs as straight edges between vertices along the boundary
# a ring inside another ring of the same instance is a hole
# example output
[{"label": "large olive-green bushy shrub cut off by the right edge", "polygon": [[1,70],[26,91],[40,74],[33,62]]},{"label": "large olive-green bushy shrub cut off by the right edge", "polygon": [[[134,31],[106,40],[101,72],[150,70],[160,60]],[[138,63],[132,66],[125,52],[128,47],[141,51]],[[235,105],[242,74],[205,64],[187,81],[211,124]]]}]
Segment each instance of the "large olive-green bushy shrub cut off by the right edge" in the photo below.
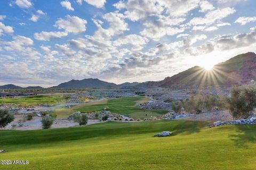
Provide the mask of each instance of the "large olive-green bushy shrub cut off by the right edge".
[{"label": "large olive-green bushy shrub cut off by the right edge", "polygon": [[233,87],[227,107],[233,118],[247,118],[256,107],[256,87]]}]

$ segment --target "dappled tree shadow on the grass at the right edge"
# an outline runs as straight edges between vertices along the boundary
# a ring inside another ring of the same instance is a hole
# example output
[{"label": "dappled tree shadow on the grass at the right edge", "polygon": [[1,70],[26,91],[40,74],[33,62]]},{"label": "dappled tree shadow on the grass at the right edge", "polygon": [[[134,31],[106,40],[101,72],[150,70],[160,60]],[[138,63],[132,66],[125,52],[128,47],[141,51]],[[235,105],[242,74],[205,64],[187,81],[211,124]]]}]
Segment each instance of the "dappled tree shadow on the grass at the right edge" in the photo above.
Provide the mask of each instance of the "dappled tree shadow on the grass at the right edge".
[{"label": "dappled tree shadow on the grass at the right edge", "polygon": [[237,134],[229,135],[239,148],[249,148],[248,143],[256,142],[256,125],[235,125]]}]

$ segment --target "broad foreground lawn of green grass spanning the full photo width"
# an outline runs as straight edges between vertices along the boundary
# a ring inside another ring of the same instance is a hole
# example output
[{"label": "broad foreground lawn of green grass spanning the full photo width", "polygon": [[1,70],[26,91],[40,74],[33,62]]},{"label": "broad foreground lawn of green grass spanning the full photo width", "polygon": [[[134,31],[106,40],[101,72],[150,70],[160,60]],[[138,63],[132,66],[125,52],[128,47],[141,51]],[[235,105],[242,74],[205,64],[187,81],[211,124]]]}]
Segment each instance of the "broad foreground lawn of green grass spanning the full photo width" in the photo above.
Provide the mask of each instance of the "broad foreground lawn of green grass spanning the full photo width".
[{"label": "broad foreground lawn of green grass spanning the full photo width", "polygon": [[[81,128],[0,131],[0,169],[255,169],[256,125],[206,122],[101,123]],[[171,137],[157,138],[161,131]]]}]

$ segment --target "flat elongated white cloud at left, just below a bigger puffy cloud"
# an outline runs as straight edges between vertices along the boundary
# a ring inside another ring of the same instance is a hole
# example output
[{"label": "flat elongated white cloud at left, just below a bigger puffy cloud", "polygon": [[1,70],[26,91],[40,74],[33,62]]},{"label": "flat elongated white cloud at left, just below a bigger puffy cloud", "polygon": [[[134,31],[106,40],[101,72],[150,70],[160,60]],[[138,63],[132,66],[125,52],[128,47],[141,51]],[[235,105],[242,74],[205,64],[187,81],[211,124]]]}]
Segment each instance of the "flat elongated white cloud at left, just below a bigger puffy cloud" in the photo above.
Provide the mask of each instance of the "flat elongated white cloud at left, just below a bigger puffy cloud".
[{"label": "flat elongated white cloud at left, just below a bigger puffy cloud", "polygon": [[53,32],[42,31],[40,33],[38,32],[34,33],[34,38],[41,41],[50,41],[54,38],[61,38],[67,35],[68,35],[67,32],[61,32],[61,31],[53,31]]}]

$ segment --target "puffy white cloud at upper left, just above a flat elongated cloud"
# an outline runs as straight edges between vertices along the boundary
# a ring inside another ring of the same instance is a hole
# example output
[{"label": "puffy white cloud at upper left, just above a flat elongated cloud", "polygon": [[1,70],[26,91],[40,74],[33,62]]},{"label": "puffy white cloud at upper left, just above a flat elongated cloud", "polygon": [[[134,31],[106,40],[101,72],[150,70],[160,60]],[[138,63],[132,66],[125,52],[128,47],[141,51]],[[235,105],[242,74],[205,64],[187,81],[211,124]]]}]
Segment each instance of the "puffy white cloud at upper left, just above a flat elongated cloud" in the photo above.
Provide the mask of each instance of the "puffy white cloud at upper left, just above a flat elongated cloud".
[{"label": "puffy white cloud at upper left, just above a flat elongated cloud", "polygon": [[66,32],[80,33],[86,30],[87,21],[78,16],[66,15],[66,19],[59,18],[54,26]]}]

